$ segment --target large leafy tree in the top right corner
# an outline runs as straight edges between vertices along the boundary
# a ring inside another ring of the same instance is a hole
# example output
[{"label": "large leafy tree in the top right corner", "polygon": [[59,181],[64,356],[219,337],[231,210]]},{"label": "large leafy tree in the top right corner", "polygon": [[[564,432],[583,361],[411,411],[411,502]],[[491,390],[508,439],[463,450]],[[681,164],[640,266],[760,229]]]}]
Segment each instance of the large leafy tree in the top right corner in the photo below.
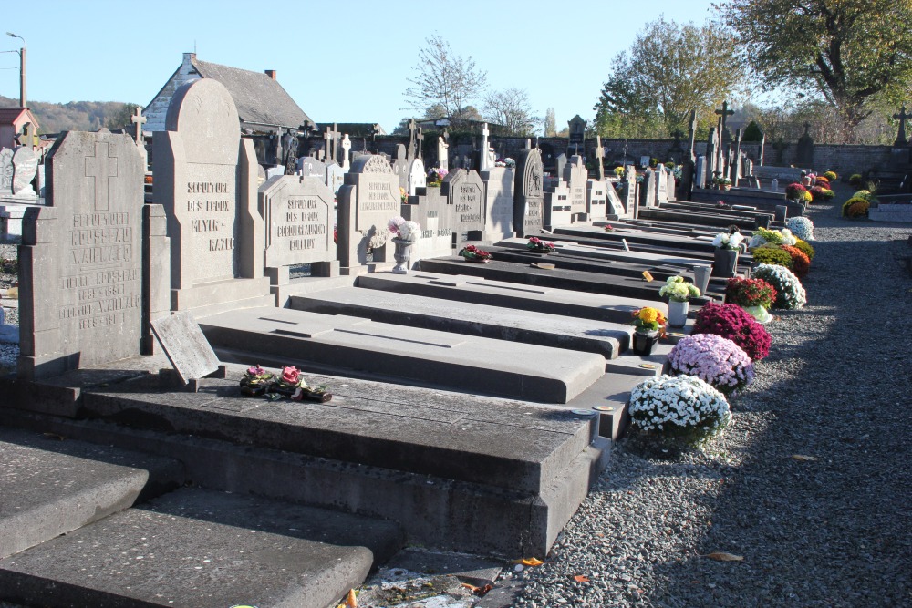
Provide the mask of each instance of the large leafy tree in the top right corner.
[{"label": "large leafy tree in the top right corner", "polygon": [[912,83],[908,0],[728,0],[717,5],[741,59],[766,88],[808,91],[834,108],[840,139]]}]

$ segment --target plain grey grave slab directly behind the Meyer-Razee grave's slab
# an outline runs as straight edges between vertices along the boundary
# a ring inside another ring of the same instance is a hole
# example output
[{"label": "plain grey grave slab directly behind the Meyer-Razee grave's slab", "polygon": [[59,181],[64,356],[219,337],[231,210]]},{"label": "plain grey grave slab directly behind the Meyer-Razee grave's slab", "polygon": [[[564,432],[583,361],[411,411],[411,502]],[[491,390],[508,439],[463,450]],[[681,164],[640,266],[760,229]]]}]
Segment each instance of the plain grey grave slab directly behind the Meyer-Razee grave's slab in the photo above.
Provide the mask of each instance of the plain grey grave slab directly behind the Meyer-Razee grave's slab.
[{"label": "plain grey grave slab directly behind the Meyer-Razee grave's slab", "polygon": [[615,358],[626,350],[633,332],[631,325],[357,287],[293,296],[289,307],[311,313],[363,316],[383,323],[580,350],[598,353],[606,359]]}]

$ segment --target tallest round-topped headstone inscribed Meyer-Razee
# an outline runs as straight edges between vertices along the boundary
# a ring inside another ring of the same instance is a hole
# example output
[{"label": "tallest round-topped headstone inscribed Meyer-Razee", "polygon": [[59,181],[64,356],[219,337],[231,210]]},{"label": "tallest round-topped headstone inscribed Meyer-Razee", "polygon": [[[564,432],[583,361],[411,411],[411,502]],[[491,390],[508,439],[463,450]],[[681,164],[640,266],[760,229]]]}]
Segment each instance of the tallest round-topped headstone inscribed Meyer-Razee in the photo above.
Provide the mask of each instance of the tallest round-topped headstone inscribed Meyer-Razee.
[{"label": "tallest round-topped headstone inscribed Meyer-Razee", "polygon": [[194,80],[171,98],[165,123],[153,163],[171,237],[171,310],[271,304],[256,153],[231,95],[217,80]]}]

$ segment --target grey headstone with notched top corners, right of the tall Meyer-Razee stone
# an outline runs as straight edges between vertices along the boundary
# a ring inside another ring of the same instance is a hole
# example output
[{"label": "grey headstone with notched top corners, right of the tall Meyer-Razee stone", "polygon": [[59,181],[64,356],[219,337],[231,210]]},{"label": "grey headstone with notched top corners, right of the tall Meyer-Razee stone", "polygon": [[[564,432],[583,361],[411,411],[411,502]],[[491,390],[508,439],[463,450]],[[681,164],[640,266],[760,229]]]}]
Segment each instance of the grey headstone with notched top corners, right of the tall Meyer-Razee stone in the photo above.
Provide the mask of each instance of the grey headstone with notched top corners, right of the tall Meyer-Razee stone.
[{"label": "grey headstone with notched top corners, right of the tall Meyer-Razee stone", "polygon": [[296,264],[311,264],[314,276],[337,274],[335,196],[329,187],[316,177],[285,175],[267,180],[258,194],[265,273],[273,292],[289,282],[288,267]]}]

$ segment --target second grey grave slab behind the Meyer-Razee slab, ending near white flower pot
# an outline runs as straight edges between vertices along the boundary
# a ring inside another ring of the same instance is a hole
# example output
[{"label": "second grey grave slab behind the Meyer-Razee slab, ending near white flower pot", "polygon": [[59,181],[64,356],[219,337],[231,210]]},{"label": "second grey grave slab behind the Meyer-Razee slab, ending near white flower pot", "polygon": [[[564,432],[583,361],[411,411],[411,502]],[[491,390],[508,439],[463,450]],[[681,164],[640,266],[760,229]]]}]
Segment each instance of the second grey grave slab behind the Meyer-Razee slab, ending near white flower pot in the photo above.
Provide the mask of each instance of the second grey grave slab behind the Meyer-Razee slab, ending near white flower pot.
[{"label": "second grey grave slab behind the Meyer-Razee slab, ending near white flower pot", "polygon": [[358,287],[618,324],[629,323],[631,314],[643,306],[655,306],[663,313],[668,312],[667,304],[654,300],[519,285],[462,274],[371,273],[358,277]]}]

